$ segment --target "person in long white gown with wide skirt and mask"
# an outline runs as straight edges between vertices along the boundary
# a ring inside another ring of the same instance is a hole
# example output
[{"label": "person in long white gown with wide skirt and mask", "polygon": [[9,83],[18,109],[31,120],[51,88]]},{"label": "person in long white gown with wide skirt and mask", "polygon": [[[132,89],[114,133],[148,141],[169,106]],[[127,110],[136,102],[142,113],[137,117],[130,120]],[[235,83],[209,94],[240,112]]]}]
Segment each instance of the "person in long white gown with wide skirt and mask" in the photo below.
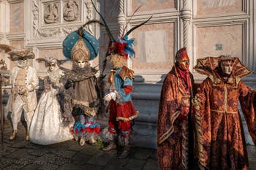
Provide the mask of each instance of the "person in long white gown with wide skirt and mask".
[{"label": "person in long white gown with wide skirt and mask", "polygon": [[63,84],[61,77],[64,72],[59,69],[61,61],[56,58],[38,58],[37,61],[45,61],[48,66],[47,76],[43,78],[44,91],[37,104],[37,109],[31,121],[29,140],[35,144],[55,144],[73,139],[71,125],[74,120],[64,122],[59,101]]}]

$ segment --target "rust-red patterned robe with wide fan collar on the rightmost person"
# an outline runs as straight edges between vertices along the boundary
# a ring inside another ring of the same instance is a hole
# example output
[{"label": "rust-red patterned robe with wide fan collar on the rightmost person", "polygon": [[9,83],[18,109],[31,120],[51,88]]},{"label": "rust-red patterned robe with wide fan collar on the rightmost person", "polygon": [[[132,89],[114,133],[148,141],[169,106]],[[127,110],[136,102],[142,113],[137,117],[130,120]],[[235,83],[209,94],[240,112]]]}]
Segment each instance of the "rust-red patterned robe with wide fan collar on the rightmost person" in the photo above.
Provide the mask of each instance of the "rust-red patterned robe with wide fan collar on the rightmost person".
[{"label": "rust-red patterned robe with wide fan collar on the rightmost person", "polygon": [[225,80],[220,69],[222,57],[198,59],[195,66],[197,72],[208,76],[194,102],[199,163],[202,169],[244,170],[248,157],[238,101],[256,144],[255,91],[241,81],[252,71],[238,58],[231,58],[233,70]]}]

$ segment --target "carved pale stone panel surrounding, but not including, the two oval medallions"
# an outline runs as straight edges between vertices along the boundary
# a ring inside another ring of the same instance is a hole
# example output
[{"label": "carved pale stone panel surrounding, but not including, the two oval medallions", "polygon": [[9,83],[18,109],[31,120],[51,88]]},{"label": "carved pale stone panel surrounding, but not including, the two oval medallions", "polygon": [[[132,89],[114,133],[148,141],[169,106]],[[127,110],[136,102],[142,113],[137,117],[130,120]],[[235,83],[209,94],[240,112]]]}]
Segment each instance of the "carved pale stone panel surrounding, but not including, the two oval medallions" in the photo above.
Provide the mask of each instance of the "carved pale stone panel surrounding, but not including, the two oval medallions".
[{"label": "carved pale stone panel surrounding, but not including, the two oval medallions", "polygon": [[[78,0],[76,0],[78,1]],[[58,4],[59,6],[59,23],[45,23],[44,18],[44,4],[50,3]],[[63,39],[72,31],[75,31],[80,26],[83,26],[88,20],[97,18],[96,13],[91,5],[90,0],[81,0],[76,5],[80,5],[79,17],[76,20],[64,20],[64,5],[67,1],[64,0],[33,0],[32,3],[25,1],[25,31],[26,31],[26,46],[33,47],[34,45],[39,47],[61,47]],[[94,0],[95,3],[95,0]],[[32,15],[31,15],[32,14]],[[70,18],[69,18],[70,19]],[[87,26],[87,30],[97,36],[97,24]],[[50,39],[50,40],[49,40]]]}]

